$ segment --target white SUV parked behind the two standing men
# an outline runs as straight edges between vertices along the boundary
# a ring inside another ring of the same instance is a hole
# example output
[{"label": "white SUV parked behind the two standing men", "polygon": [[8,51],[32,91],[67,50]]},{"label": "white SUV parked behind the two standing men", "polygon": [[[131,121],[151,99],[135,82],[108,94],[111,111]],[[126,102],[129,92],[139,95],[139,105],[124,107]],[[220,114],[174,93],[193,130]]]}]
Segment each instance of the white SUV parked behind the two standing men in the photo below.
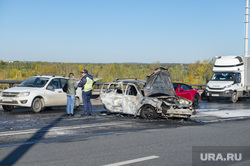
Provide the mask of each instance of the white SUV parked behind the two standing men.
[{"label": "white SUV parked behind the two standing men", "polygon": [[[67,78],[60,76],[34,76],[22,82],[17,87],[9,88],[0,93],[0,105],[5,111],[11,111],[15,106],[30,107],[34,112],[40,112],[44,107],[67,105],[67,95],[62,87]],[[81,89],[77,89],[75,108],[82,102]]]}]

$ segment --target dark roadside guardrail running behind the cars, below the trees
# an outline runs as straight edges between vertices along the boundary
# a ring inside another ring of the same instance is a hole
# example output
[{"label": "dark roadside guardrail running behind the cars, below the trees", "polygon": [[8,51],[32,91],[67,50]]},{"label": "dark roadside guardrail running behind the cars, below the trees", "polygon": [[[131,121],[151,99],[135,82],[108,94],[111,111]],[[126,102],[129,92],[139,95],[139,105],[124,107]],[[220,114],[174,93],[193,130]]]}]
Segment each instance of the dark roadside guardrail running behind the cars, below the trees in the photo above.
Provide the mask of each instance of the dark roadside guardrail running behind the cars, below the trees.
[{"label": "dark roadside guardrail running behind the cars, below the trees", "polygon": [[[9,88],[13,87],[15,84],[20,84],[22,83],[23,81],[20,81],[20,80],[0,80],[0,84],[9,84]],[[97,86],[96,89],[101,89],[101,86],[103,84],[108,84],[108,82],[95,82],[95,85]],[[200,90],[204,90],[206,87],[206,84],[188,84],[189,86],[195,86],[195,87],[198,87],[198,89]]]}]

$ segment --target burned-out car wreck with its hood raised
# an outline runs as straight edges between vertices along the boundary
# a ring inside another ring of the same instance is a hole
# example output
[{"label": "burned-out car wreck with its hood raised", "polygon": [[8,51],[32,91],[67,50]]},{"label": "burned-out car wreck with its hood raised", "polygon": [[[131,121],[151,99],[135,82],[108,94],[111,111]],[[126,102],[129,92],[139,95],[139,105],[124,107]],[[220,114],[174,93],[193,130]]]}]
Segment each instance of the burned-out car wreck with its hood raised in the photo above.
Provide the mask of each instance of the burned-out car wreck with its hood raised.
[{"label": "burned-out car wreck with its hood raised", "polygon": [[192,101],[176,96],[170,74],[162,67],[155,69],[146,81],[117,79],[103,85],[100,99],[110,113],[144,119],[188,118],[193,112]]}]

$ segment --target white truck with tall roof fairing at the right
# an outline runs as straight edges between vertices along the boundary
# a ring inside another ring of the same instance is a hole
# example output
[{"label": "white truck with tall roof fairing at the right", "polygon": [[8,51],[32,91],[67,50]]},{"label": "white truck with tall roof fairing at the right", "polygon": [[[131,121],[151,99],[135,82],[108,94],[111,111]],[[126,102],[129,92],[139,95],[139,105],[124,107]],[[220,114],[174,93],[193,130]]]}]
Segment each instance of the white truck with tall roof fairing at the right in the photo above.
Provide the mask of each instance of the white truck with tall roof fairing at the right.
[{"label": "white truck with tall roof fairing at the right", "polygon": [[239,98],[249,97],[250,59],[248,58],[245,56],[216,57],[214,74],[204,92],[209,101],[230,99],[235,103]]}]

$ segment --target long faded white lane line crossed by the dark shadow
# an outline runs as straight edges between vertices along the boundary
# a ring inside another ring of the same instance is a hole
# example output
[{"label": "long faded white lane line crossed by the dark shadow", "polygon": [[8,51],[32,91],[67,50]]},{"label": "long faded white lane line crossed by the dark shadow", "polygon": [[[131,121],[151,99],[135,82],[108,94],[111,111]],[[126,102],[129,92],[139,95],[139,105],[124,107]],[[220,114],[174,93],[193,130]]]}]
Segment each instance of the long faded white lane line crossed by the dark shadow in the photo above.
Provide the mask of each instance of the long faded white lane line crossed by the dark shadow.
[{"label": "long faded white lane line crossed by the dark shadow", "polygon": [[91,124],[91,125],[78,125],[78,126],[68,126],[68,127],[52,127],[50,129],[30,129],[30,130],[21,130],[21,131],[6,131],[0,132],[1,136],[12,136],[12,135],[22,135],[22,134],[34,134],[36,132],[52,132],[52,131],[60,131],[60,130],[74,130],[74,129],[84,129],[84,128],[91,128],[91,127],[102,127],[102,126],[116,126],[116,125],[124,125],[124,124],[131,124],[131,122],[109,122],[109,123],[99,123],[99,124]]}]

